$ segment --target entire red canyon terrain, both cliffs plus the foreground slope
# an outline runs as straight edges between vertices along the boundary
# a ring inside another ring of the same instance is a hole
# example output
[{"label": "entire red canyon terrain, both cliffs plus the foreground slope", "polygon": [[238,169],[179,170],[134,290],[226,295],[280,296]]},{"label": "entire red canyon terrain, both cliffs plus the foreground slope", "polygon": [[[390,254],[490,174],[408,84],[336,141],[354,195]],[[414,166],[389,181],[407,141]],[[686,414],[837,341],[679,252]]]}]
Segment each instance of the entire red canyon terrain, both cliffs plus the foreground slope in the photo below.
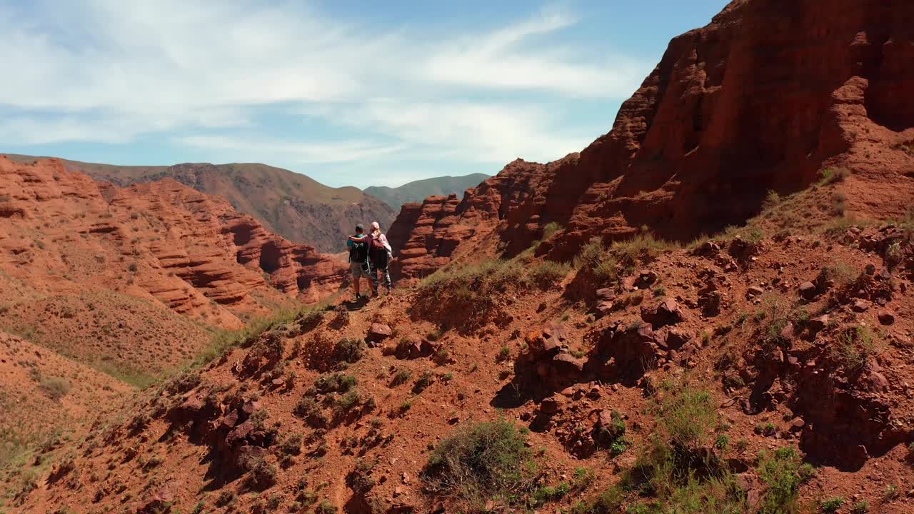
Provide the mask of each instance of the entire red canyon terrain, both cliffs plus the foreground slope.
[{"label": "entire red canyon terrain, both cliffs plus the foreground slope", "polygon": [[[397,283],[0,157],[0,512],[914,511],[914,4],[735,0]],[[609,123],[607,123],[609,125]]]}]

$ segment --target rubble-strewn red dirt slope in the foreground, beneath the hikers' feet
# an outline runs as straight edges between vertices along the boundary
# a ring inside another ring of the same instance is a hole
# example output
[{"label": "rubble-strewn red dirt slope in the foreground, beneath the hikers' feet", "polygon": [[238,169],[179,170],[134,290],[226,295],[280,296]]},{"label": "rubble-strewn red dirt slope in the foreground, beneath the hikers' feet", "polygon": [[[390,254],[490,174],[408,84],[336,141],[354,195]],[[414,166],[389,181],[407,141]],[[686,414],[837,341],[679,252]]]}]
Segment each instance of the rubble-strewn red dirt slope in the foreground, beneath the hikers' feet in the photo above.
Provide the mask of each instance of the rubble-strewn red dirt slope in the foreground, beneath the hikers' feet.
[{"label": "rubble-strewn red dirt slope in the foreground, beneath the hikers' feet", "polygon": [[[831,192],[804,191],[754,223],[771,231],[794,209],[827,220]],[[440,512],[446,500],[421,478],[431,449],[504,416],[531,431],[539,487],[593,472],[541,507],[567,511],[648,452],[663,433],[652,405],[670,394],[663,384],[680,381],[709,391],[704,449],[739,474],[744,511],[770,494],[758,455],[791,449],[822,467],[789,511],[844,498],[909,512],[912,223],[758,241],[728,234],[694,250],[633,253],[635,271],[620,260],[618,276],[597,279],[585,266],[547,284],[505,280],[503,294],[490,294],[485,284],[499,279],[483,273],[465,290],[400,289],[352,312],[286,320],[100,423],[66,480],[39,481],[23,509],[91,498],[97,509],[137,512],[310,512],[317,501]],[[526,254],[508,265],[519,279],[538,262]],[[573,299],[581,278],[596,301]],[[864,333],[872,346],[847,338]],[[362,340],[367,348],[339,351]],[[352,389],[338,389],[335,372],[354,377]],[[619,455],[600,444],[612,411],[629,427]],[[726,444],[711,446],[715,437]],[[624,506],[644,505],[651,493],[642,493]],[[507,501],[488,510],[523,509]]]}]

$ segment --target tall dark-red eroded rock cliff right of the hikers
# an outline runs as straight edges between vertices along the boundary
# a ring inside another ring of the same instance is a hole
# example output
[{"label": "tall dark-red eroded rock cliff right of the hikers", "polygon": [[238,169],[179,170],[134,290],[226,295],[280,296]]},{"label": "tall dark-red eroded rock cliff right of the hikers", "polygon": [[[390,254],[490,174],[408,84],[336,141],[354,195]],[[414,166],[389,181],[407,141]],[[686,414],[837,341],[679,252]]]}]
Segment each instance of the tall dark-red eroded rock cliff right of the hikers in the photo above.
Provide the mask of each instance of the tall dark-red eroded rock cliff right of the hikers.
[{"label": "tall dark-red eroded rock cliff right of the hikers", "polygon": [[553,258],[643,225],[689,241],[747,220],[768,190],[807,187],[824,166],[852,172],[848,209],[902,215],[900,198],[914,194],[914,156],[901,146],[914,140],[903,92],[914,87],[914,5],[835,0],[826,10],[731,2],[671,41],[611,132],[580,154],[515,161],[453,208],[440,198],[405,206],[394,224],[403,275],[464,252],[521,252],[550,221],[565,226],[539,247]]}]

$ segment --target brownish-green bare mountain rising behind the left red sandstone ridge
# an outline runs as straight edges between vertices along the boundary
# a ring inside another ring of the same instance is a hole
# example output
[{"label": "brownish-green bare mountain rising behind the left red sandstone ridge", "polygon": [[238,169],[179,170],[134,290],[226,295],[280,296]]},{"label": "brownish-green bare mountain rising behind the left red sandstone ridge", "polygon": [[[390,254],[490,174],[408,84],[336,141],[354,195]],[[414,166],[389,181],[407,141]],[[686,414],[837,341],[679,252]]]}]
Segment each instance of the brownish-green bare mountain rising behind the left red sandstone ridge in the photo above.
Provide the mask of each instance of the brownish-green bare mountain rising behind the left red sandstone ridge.
[{"label": "brownish-green bare mountain rising behind the left red sandstone ridge", "polygon": [[[20,162],[36,159],[9,156]],[[387,203],[356,187],[328,187],[302,174],[262,164],[114,166],[63,161],[71,171],[120,187],[174,178],[197,191],[227,199],[266,230],[321,252],[345,251],[345,236],[357,222],[377,221],[388,227],[396,217]]]}]

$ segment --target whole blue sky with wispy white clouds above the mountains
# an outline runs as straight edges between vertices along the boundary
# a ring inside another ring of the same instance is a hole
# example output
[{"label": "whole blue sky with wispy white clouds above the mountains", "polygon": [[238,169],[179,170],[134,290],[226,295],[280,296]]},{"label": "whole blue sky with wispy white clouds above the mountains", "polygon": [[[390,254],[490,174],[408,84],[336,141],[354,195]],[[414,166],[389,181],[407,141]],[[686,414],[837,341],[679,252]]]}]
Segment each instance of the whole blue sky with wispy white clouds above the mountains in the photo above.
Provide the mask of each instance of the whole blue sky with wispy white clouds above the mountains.
[{"label": "whole blue sky with wispy white clouds above the mountains", "polygon": [[399,186],[610,128],[725,0],[0,0],[0,152]]}]

